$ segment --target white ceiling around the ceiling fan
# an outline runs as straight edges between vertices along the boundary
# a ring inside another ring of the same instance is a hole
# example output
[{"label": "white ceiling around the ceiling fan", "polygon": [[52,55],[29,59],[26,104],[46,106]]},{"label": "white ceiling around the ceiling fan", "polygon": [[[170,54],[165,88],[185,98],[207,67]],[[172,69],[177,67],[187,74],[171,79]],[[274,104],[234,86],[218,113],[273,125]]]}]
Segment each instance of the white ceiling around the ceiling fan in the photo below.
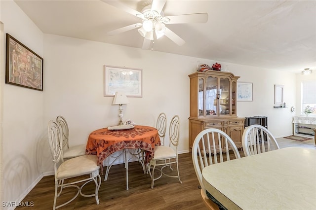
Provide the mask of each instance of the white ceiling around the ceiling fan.
[{"label": "white ceiling around the ceiling fan", "polygon": [[[142,48],[137,30],[106,33],[141,19],[101,0],[15,0],[45,34]],[[149,0],[124,0],[141,11]],[[315,0],[167,0],[164,15],[208,13],[207,23],[170,24],[186,43],[163,36],[153,49],[220,62],[316,72]],[[209,64],[211,65],[211,64]]]}]

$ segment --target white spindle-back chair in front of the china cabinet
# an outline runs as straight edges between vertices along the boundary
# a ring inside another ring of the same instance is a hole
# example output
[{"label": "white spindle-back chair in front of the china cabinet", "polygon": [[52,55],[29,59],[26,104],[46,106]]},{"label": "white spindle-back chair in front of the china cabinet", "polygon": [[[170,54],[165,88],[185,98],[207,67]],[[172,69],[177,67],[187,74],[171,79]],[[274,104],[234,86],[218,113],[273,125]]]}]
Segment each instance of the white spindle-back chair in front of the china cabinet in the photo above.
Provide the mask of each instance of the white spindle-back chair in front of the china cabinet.
[{"label": "white spindle-back chair in front of the china cabinet", "polygon": [[[197,174],[199,185],[201,186],[202,200],[209,210],[219,210],[220,207],[221,209],[225,209],[225,207],[206,192],[202,183],[202,170],[206,166],[229,161],[231,159],[230,150],[233,150],[235,159],[240,158],[234,141],[226,133],[215,128],[201,131],[193,142],[193,166]],[[209,199],[209,197],[211,197],[212,200]]]}]

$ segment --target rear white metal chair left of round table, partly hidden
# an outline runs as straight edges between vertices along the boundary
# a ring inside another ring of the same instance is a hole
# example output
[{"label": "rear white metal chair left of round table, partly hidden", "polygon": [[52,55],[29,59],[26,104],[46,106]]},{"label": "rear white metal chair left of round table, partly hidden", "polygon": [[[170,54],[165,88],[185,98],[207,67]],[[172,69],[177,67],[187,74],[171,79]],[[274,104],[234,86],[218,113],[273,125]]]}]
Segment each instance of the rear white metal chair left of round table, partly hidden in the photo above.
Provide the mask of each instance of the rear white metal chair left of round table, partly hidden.
[{"label": "rear white metal chair left of round table, partly hidden", "polygon": [[62,137],[63,137],[63,159],[70,159],[78,156],[85,155],[85,144],[79,144],[76,146],[72,146],[69,148],[69,127],[66,119],[59,115],[56,118],[56,122],[62,129]]}]

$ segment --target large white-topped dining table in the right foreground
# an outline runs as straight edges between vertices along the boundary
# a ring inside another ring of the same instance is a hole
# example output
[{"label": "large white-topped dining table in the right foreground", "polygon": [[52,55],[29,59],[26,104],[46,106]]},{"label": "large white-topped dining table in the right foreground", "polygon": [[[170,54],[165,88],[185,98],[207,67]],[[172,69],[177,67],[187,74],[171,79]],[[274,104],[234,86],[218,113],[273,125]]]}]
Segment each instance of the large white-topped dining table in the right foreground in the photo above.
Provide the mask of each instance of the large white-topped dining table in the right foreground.
[{"label": "large white-topped dining table in the right foreground", "polygon": [[207,166],[205,189],[228,210],[316,210],[316,149],[286,147]]}]

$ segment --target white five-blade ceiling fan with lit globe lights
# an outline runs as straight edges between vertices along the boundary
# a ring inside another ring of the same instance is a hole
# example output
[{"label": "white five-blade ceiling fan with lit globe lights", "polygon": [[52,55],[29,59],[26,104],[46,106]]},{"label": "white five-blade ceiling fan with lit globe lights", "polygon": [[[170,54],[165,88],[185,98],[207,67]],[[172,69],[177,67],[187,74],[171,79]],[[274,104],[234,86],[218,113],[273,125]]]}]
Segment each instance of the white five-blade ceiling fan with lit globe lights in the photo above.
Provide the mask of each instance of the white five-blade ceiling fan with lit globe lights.
[{"label": "white five-blade ceiling fan with lit globe lights", "polygon": [[148,49],[155,38],[165,35],[179,46],[185,41],[165,25],[167,24],[185,24],[185,23],[206,23],[208,19],[207,13],[183,14],[164,16],[162,8],[166,0],[153,0],[151,4],[145,6],[141,12],[134,10],[118,0],[102,0],[112,6],[124,10],[141,19],[140,23],[125,26],[114,31],[110,31],[107,35],[117,35],[133,29],[137,29],[139,34],[144,37],[143,49]]}]

